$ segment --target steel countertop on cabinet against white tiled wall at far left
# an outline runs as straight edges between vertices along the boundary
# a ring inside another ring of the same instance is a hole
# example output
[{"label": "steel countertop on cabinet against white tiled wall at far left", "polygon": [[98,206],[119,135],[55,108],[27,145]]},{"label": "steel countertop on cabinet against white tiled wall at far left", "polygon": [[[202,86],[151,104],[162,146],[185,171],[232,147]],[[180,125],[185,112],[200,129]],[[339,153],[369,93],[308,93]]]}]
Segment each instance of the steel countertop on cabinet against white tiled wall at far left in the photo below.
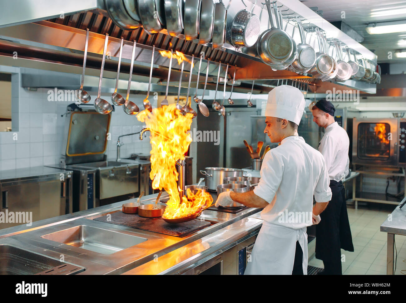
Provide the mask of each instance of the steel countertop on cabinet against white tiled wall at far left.
[{"label": "steel countertop on cabinet against white tiled wall at far left", "polygon": [[13,182],[20,181],[24,179],[29,179],[33,177],[43,177],[51,176],[54,174],[69,174],[72,173],[71,170],[50,168],[46,166],[36,166],[31,168],[20,168],[15,170],[1,170],[0,171],[0,182]]}]

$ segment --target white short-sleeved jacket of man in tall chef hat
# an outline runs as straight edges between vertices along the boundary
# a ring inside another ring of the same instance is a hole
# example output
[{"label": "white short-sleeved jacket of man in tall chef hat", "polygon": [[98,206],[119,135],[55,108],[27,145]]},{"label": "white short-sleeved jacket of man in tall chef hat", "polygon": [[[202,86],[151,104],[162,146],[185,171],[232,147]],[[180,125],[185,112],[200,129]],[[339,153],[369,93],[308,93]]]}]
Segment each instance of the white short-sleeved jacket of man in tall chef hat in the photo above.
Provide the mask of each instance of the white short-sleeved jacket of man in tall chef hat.
[{"label": "white short-sleeved jacket of man in tall chef hat", "polygon": [[293,229],[311,226],[313,195],[316,202],[331,200],[324,158],[302,137],[287,137],[266,153],[260,174],[254,193],[269,203],[261,212],[268,223]]}]

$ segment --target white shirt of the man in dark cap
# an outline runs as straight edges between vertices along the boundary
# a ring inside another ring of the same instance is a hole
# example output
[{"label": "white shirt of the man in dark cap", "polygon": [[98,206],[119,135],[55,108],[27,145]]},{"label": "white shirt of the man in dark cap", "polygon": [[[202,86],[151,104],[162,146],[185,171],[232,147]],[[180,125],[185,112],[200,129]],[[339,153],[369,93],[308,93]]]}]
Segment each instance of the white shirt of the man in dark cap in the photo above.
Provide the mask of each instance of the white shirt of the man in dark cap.
[{"label": "white shirt of the man in dark cap", "polygon": [[324,136],[319,143],[319,151],[322,153],[328,170],[330,180],[341,181],[347,176],[350,159],[348,158],[348,148],[350,139],[345,129],[337,122],[326,127]]}]

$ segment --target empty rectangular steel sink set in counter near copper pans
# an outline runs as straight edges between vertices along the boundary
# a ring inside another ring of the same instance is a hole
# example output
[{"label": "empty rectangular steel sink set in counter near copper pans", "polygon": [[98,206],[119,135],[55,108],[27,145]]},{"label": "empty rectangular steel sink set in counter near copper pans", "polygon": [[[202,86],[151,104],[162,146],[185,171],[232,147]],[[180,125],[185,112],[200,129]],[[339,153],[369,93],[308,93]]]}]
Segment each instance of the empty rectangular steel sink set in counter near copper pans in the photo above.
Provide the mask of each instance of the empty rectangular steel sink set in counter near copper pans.
[{"label": "empty rectangular steel sink set in counter near copper pans", "polygon": [[147,241],[145,238],[102,228],[79,225],[41,236],[43,239],[110,255]]}]

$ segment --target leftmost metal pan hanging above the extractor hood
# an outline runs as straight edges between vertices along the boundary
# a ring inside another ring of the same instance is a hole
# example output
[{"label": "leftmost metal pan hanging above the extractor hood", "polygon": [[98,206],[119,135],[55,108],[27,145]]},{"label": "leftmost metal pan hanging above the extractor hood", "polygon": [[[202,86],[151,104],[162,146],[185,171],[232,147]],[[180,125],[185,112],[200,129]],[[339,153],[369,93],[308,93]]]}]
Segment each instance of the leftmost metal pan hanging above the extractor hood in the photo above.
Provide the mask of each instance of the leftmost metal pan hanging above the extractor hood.
[{"label": "leftmost metal pan hanging above the extractor hood", "polygon": [[130,15],[125,8],[125,2],[123,0],[104,0],[106,11],[119,28],[122,30],[134,30],[141,27],[140,19],[136,18],[136,15]]}]

